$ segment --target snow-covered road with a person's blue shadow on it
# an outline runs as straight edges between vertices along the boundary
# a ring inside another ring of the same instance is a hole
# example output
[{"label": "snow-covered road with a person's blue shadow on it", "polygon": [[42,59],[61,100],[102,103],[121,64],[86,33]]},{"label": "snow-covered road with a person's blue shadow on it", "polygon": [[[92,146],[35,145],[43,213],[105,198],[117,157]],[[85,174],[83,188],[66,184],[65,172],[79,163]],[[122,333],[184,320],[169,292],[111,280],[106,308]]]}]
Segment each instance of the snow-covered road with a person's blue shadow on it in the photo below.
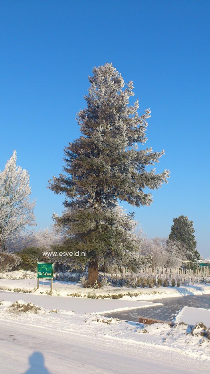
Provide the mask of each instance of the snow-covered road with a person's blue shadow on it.
[{"label": "snow-covered road with a person's blue shadow on it", "polygon": [[[9,322],[9,323],[8,323]],[[0,320],[1,374],[209,374],[210,363],[132,342]],[[43,362],[44,360],[44,362]]]}]

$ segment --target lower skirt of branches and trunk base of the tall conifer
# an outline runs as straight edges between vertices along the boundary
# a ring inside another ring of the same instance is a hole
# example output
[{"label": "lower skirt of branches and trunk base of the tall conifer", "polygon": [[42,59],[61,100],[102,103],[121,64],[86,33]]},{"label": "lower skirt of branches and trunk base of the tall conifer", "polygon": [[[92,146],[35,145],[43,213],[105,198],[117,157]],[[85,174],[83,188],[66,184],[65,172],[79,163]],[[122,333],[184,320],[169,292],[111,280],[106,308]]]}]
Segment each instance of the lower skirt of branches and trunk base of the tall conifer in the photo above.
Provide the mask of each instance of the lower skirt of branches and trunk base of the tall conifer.
[{"label": "lower skirt of branches and trunk base of the tall conifer", "polygon": [[66,210],[62,217],[56,217],[58,225],[67,226],[68,237],[59,246],[52,246],[57,252],[87,252],[86,257],[70,257],[65,261],[71,269],[84,270],[91,261],[88,283],[99,284],[98,267],[108,267],[111,263],[132,264],[138,255],[138,240],[134,229],[137,225],[132,215],[125,214],[120,206],[104,208],[101,206],[74,206]]}]

